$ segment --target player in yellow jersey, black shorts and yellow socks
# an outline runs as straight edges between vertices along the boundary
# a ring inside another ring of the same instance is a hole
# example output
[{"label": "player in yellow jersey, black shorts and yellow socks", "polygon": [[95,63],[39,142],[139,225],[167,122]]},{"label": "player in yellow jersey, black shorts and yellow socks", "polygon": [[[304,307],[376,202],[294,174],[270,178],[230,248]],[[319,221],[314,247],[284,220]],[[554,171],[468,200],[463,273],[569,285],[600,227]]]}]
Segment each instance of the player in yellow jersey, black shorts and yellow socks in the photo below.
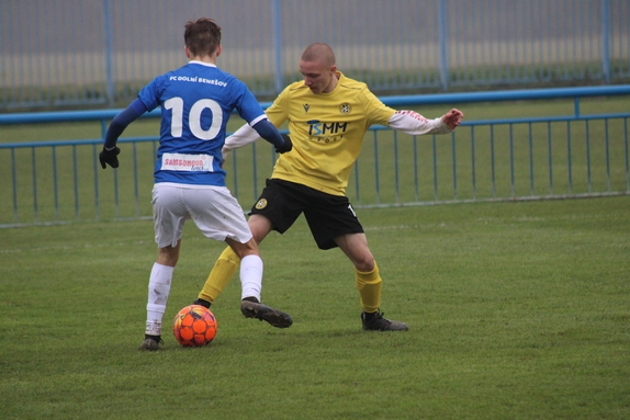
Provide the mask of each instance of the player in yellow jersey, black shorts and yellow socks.
[{"label": "player in yellow jersey, black shorts and yellow socks", "polygon": [[[380,311],[382,280],[363,228],[346,197],[350,169],[365,132],[381,124],[410,135],[451,133],[463,118],[450,110],[427,120],[413,111],[385,106],[365,86],[337,71],[333,49],[313,44],[302,54],[304,81],[286,87],[266,111],[280,127],[288,122],[293,149],[278,159],[271,179],[251,209],[248,224],[258,243],[271,230],[286,231],[304,213],[319,249],[339,247],[355,264],[355,279],[364,330],[406,331],[405,322],[385,319]],[[245,125],[226,139],[225,155],[259,138]],[[228,247],[213,268],[196,304],[210,306],[238,268]],[[274,322],[272,318],[260,319]]]}]

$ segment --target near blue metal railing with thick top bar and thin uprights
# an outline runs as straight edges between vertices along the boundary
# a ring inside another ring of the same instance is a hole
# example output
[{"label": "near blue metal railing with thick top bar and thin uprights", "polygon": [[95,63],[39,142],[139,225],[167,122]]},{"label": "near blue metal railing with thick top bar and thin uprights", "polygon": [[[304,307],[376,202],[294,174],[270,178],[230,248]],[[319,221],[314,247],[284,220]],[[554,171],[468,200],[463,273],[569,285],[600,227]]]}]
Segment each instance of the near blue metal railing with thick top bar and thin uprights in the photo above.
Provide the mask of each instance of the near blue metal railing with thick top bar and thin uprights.
[{"label": "near blue metal railing with thick top bar and thin uprights", "polygon": [[[580,99],[629,94],[630,86],[618,86],[382,98],[396,107],[556,98],[572,98],[575,106],[569,116],[465,121],[450,136],[372,127],[348,195],[369,207],[628,194],[630,112],[583,115]],[[0,125],[88,121],[100,123],[104,136],[117,112],[0,115]],[[158,138],[120,139],[125,164],[105,171],[98,162],[102,141],[0,144],[0,226],[150,217]],[[244,208],[258,196],[274,159],[270,148],[254,144],[226,163],[229,188]]]}]

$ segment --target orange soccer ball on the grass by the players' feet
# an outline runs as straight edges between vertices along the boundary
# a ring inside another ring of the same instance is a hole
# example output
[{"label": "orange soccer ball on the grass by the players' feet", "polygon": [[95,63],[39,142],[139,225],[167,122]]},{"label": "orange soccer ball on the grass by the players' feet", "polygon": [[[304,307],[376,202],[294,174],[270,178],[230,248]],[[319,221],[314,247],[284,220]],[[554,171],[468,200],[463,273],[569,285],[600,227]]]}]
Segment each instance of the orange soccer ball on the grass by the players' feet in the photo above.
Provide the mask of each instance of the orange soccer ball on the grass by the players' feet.
[{"label": "orange soccer ball on the grass by the players' feet", "polygon": [[172,332],[183,347],[203,347],[216,336],[216,318],[201,305],[189,305],[175,316]]}]

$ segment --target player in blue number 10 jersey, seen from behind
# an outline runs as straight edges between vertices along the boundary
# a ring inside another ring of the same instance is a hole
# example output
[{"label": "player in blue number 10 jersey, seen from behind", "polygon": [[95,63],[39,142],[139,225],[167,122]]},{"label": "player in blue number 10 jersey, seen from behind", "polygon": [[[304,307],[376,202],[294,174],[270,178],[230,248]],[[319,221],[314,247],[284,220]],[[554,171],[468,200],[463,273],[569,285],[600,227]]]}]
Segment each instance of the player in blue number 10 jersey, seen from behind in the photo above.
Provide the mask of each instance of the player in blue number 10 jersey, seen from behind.
[{"label": "player in blue number 10 jersey, seen from behind", "polygon": [[292,148],[268,121],[245,83],[220,70],[221,27],[211,19],[189,21],[184,50],[190,63],[148,83],[112,121],[99,159],[119,167],[116,140],[133,121],[161,109],[160,145],[155,166],[153,208],[158,257],[148,286],[147,322],[142,350],[158,350],[161,321],[179,259],[185,220],[193,219],[211,239],[227,242],[240,259],[243,315],[290,327],[291,317],[260,303],[262,260],[243,208],[225,185],[221,167],[226,124],[233,110],[260,137],[283,154]]}]

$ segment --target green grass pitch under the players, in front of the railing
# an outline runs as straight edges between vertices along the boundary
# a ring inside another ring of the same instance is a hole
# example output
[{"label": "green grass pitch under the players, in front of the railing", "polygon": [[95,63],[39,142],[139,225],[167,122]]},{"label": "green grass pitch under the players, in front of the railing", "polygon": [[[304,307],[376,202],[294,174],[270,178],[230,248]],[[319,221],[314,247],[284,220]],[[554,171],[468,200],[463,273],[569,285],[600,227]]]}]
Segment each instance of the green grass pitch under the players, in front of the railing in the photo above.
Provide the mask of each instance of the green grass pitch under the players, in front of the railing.
[{"label": "green grass pitch under the players, in front of the railing", "polygon": [[[263,299],[235,279],[216,339],[137,350],[150,222],[0,229],[3,419],[628,419],[630,196],[362,209],[382,309],[365,332],[350,263],[302,219],[262,243]],[[165,319],[223,246],[191,224]]]}]

